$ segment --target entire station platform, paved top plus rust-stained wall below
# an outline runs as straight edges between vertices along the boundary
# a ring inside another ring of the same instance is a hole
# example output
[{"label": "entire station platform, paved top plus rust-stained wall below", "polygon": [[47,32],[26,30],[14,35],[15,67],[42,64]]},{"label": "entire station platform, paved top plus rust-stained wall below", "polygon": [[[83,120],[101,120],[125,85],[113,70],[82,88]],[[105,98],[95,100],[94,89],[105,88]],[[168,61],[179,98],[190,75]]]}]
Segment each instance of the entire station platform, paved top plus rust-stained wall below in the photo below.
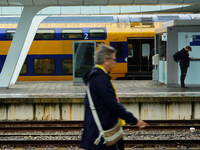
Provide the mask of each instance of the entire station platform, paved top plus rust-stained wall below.
[{"label": "entire station platform, paved top plus rust-stained wall below", "polygon": [[[113,83],[120,103],[137,118],[200,118],[200,87],[168,88],[152,80]],[[84,120],[86,88],[73,81],[17,82],[0,89],[0,120]]]}]

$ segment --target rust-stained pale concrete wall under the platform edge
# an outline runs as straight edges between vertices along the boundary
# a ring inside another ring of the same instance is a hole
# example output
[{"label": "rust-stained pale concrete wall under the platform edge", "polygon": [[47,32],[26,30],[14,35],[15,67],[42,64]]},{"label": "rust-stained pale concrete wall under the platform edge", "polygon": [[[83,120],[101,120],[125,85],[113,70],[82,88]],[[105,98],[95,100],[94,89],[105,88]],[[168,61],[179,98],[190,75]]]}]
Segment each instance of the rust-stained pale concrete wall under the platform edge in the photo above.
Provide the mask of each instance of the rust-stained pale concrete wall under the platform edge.
[{"label": "rust-stained pale concrete wall under the platform edge", "polygon": [[[131,102],[122,105],[142,120],[200,118],[198,102]],[[84,120],[83,103],[2,104],[0,120]]]}]

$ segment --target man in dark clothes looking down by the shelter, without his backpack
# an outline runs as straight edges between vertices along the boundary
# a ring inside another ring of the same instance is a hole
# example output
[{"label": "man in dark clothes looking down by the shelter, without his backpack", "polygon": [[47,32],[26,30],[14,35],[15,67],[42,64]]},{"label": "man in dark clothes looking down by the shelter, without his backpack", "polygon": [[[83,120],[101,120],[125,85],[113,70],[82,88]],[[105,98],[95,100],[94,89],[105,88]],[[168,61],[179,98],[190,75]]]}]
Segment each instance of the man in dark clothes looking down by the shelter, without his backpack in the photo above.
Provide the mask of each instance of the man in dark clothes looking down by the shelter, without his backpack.
[{"label": "man in dark clothes looking down by the shelter, without his backpack", "polygon": [[190,58],[189,57],[189,51],[192,51],[192,48],[190,46],[186,46],[180,51],[181,56],[181,62],[180,62],[180,68],[181,68],[181,88],[188,88],[185,86],[185,76],[187,73],[187,69],[190,66]]}]

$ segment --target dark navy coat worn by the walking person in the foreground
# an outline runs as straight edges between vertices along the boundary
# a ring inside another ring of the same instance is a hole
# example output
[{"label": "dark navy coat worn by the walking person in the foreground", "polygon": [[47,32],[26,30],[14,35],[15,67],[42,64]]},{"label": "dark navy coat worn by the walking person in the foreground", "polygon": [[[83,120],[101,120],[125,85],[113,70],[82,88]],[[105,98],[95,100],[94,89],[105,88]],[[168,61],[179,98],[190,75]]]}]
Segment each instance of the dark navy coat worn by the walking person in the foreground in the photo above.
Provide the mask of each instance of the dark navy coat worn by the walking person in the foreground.
[{"label": "dark navy coat worn by the walking person in the foreground", "polygon": [[[90,84],[90,93],[104,130],[113,127],[113,125],[117,123],[118,118],[124,119],[127,123],[137,123],[137,119],[132,113],[126,111],[125,108],[117,102],[110,77],[105,74],[103,70],[94,68],[86,73],[83,79],[85,84],[88,82]],[[99,136],[99,131],[89,107],[87,94],[84,103],[84,130],[80,147],[86,150],[117,150],[116,144],[109,147],[105,146],[103,144],[103,139],[101,139],[99,145],[94,144],[94,141]]]}]

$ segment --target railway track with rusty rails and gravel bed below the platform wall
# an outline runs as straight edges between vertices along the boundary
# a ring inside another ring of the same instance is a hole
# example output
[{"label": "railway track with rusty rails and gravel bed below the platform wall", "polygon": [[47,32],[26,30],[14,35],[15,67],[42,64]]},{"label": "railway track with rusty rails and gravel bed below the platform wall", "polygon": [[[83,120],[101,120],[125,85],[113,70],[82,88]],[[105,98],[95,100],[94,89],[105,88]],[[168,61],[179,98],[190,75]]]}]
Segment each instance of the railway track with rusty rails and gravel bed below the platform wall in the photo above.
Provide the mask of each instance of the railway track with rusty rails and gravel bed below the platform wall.
[{"label": "railway track with rusty rails and gravel bed below the platform wall", "polygon": [[[200,120],[146,120],[146,122],[148,126],[143,130],[130,124],[123,127],[126,147],[200,147]],[[195,132],[190,132],[190,127],[194,127]],[[78,147],[82,128],[82,121],[2,121],[0,122],[0,146]],[[136,135],[139,135],[139,138]],[[157,138],[161,135],[163,136],[160,137],[161,139]],[[21,139],[22,137],[24,139]],[[45,139],[46,137],[51,138]],[[151,139],[152,137],[154,139]],[[162,139],[164,137],[167,139]],[[174,137],[178,139],[171,139]]]}]

